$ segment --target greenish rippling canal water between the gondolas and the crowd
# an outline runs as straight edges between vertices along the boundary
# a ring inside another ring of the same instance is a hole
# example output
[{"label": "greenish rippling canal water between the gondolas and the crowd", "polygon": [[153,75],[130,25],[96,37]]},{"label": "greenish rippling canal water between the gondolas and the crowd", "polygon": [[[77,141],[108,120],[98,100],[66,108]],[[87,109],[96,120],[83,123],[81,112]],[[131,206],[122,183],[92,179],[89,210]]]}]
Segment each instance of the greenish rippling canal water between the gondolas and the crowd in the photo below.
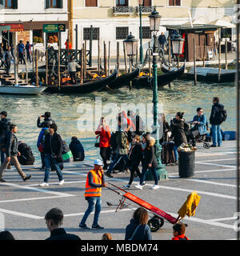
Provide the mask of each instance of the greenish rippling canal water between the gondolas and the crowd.
[{"label": "greenish rippling canal water between the gondolas and the crowd", "polygon": [[[202,107],[209,119],[212,106],[212,98],[218,96],[225,106],[228,117],[222,124],[222,130],[236,130],[236,87],[230,84],[206,84],[198,82],[174,81],[171,88],[165,86],[158,90],[158,101],[163,106],[166,121],[174,117],[176,112],[185,113],[186,120],[192,120],[196,109]],[[39,152],[36,146],[40,129],[37,127],[38,116],[46,111],[52,113],[52,118],[58,124],[58,132],[66,142],[70,142],[72,136],[80,138],[87,159],[99,157],[99,149],[94,148],[95,136],[93,130],[81,132],[77,123],[79,114],[78,106],[82,103],[95,106],[95,97],[102,97],[102,105],[107,103],[151,103],[152,90],[129,90],[122,88],[117,91],[97,92],[87,95],[42,94],[38,96],[0,95],[0,110],[8,112],[8,118],[18,125],[18,140],[31,146],[35,163],[40,162]]]}]

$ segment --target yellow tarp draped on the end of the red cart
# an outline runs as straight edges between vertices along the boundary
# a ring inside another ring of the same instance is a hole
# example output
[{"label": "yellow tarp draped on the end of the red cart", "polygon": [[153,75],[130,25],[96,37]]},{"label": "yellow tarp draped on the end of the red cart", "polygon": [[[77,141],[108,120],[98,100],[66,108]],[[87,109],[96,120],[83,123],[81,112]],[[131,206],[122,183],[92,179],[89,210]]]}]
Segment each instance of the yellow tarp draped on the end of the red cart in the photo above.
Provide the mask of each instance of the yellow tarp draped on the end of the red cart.
[{"label": "yellow tarp draped on the end of the red cart", "polygon": [[188,217],[195,215],[195,210],[200,202],[200,196],[196,191],[192,192],[184,202],[183,206],[178,210],[178,214],[181,218],[184,218],[186,215]]}]

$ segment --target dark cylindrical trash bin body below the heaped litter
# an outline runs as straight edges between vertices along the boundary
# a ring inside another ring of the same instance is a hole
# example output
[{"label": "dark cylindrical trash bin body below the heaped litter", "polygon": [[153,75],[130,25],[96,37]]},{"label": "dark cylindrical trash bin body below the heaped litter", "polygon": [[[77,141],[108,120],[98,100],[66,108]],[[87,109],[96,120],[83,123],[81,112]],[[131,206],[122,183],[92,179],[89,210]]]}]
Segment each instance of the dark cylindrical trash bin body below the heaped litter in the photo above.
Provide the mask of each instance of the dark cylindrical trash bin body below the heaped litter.
[{"label": "dark cylindrical trash bin body below the heaped litter", "polygon": [[195,151],[180,151],[178,154],[178,173],[180,178],[189,178],[194,176]]}]

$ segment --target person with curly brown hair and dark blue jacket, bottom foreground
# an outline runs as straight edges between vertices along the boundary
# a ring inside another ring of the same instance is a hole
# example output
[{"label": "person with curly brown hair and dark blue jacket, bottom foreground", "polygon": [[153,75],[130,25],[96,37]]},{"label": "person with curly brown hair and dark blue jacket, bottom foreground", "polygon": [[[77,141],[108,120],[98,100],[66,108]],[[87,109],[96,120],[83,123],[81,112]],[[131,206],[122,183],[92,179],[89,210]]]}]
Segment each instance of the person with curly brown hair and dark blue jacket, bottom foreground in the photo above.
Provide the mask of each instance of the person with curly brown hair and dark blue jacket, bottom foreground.
[{"label": "person with curly brown hair and dark blue jacket, bottom foreground", "polygon": [[150,226],[147,222],[147,210],[142,207],[135,210],[130,224],[126,226],[125,240],[152,240]]}]

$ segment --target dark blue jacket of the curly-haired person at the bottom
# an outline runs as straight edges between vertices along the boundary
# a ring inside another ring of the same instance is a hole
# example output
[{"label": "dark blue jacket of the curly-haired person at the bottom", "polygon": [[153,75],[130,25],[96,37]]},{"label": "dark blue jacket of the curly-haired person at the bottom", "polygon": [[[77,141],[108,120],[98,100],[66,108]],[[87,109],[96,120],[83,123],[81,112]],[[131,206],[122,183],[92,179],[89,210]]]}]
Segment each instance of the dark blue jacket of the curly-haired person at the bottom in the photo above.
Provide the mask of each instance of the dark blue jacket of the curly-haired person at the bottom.
[{"label": "dark blue jacket of the curly-haired person at the bottom", "polygon": [[[132,218],[130,220],[130,224],[126,226],[125,240],[129,240],[132,237],[138,225],[139,225],[138,219]],[[150,227],[148,225],[139,226],[132,240],[152,240]]]}]

